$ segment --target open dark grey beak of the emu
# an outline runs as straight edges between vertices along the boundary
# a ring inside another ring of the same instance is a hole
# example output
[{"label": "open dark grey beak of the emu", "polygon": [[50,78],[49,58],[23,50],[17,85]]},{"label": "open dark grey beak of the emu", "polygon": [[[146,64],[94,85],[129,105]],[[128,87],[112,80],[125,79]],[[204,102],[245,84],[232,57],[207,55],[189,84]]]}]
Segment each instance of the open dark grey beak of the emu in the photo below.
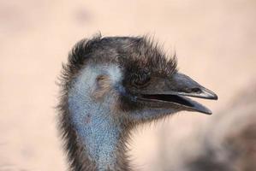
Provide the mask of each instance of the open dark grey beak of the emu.
[{"label": "open dark grey beak of the emu", "polygon": [[217,95],[199,85],[185,74],[176,73],[170,80],[158,80],[150,91],[141,91],[139,100],[157,103],[158,107],[175,107],[180,110],[197,111],[211,115],[211,110],[189,97],[217,100]]}]

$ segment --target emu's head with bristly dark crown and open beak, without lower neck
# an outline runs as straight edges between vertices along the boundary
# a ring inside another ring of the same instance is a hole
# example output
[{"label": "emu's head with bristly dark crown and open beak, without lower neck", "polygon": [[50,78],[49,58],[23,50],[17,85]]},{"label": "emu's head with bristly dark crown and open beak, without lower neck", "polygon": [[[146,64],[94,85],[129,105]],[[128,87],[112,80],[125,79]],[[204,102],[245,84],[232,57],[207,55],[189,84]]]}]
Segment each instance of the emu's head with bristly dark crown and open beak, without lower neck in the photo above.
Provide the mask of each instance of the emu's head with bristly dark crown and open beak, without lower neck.
[{"label": "emu's head with bristly dark crown and open beak, without lower neck", "polygon": [[166,56],[148,38],[81,40],[65,70],[70,110],[107,113],[119,123],[152,121],[182,110],[211,114],[188,97],[217,99],[179,73],[176,57]]}]

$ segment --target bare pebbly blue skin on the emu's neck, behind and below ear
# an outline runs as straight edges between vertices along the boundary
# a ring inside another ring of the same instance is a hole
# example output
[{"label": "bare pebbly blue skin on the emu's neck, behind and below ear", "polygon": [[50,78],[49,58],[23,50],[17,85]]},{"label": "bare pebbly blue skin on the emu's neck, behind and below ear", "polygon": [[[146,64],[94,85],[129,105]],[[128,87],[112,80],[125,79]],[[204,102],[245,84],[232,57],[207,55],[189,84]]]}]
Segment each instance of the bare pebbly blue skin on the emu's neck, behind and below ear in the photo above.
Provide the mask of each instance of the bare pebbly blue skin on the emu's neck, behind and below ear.
[{"label": "bare pebbly blue skin on the emu's neck, behind and below ear", "polygon": [[105,98],[101,103],[91,99],[96,73],[92,69],[85,70],[74,80],[68,94],[70,119],[78,136],[76,140],[84,147],[79,152],[96,165],[96,170],[116,170],[122,128],[110,117],[113,115],[109,105],[111,99]]}]

